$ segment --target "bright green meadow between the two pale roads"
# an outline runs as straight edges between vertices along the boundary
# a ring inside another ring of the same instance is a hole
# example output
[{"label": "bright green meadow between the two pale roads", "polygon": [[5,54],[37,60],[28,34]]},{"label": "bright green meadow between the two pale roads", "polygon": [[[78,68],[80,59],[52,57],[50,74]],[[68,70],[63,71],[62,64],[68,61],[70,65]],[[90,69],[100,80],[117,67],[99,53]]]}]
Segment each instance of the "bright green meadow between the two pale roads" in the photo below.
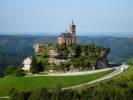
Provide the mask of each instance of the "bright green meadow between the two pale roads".
[{"label": "bright green meadow between the two pale roads", "polygon": [[108,73],[111,73],[113,70],[80,75],[80,76],[38,76],[38,77],[15,77],[15,76],[6,76],[0,78],[0,96],[8,95],[9,91],[12,88],[18,90],[32,90],[47,87],[49,89],[55,88],[57,84],[61,84],[62,87],[69,87],[78,85],[81,83],[89,82],[105,76]]}]

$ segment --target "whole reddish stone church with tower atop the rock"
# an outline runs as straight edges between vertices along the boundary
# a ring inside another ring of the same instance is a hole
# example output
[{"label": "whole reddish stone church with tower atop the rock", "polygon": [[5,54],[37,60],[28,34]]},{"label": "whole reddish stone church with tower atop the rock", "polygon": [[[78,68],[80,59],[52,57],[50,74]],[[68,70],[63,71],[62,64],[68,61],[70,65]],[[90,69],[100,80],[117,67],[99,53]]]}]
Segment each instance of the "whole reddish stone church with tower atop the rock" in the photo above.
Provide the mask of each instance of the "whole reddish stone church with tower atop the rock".
[{"label": "whole reddish stone church with tower atop the rock", "polygon": [[63,32],[58,37],[58,44],[75,44],[76,43],[76,25],[74,22],[69,25],[69,31]]}]

